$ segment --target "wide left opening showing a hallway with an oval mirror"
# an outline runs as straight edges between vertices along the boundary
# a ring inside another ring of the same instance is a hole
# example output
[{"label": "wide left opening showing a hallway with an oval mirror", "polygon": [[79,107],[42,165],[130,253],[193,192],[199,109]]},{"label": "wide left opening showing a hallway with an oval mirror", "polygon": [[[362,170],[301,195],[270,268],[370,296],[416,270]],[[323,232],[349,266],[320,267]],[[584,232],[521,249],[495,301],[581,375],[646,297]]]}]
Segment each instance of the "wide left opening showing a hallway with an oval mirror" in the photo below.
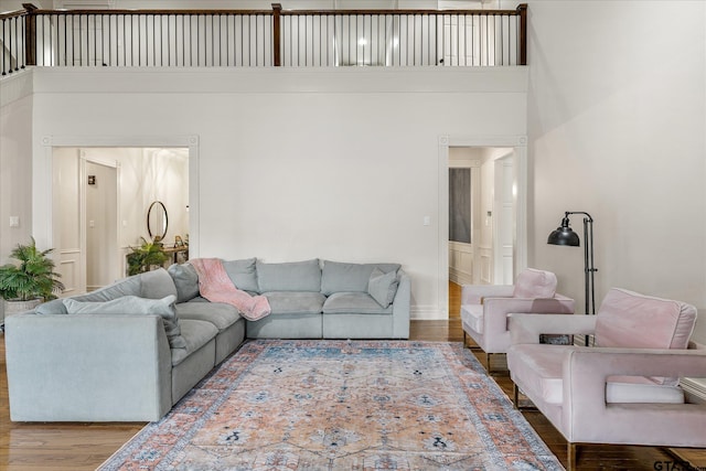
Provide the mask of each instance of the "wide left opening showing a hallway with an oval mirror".
[{"label": "wide left opening showing a hallway with an oval mirror", "polygon": [[160,234],[164,247],[189,242],[189,148],[53,149],[53,246],[65,295],[127,275],[131,247],[153,239],[148,211],[154,202],[169,222]]}]

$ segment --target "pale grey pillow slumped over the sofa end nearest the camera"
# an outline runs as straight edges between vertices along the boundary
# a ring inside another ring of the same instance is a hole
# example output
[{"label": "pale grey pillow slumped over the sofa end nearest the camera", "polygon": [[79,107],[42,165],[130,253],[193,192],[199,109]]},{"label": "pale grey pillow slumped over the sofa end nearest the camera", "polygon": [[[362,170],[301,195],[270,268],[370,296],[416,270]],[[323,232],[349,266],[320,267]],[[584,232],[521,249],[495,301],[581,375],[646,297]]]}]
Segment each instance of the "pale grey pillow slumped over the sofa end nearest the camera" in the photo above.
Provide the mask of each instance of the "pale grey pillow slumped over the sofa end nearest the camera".
[{"label": "pale grey pillow slumped over the sofa end nearest the camera", "polygon": [[179,318],[174,311],[173,295],[162,299],[146,299],[137,296],[124,296],[105,302],[83,302],[66,298],[63,300],[69,314],[157,314],[162,318],[169,345],[172,349],[185,349],[186,341],[181,335]]}]

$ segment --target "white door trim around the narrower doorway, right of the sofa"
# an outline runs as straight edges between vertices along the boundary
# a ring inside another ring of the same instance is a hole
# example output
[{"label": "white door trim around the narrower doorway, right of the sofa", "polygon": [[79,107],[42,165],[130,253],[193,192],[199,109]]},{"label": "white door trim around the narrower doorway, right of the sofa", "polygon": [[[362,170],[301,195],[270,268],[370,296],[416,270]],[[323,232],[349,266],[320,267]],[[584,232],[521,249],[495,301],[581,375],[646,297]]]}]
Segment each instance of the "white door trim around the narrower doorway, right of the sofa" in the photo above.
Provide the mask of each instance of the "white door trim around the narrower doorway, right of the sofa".
[{"label": "white door trim around the narrower doorway, right of the sofa", "polygon": [[449,148],[506,147],[513,148],[515,164],[515,231],[513,270],[527,267],[527,137],[509,136],[439,136],[438,139],[438,313],[449,318]]}]

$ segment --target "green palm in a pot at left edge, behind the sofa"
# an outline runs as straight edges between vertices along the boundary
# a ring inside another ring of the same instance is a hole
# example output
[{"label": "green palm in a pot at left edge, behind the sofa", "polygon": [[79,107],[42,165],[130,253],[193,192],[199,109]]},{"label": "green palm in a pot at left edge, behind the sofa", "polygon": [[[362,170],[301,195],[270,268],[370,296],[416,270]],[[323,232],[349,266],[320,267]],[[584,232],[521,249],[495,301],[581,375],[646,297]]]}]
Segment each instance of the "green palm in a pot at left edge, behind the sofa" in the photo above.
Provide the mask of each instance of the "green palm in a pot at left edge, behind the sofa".
[{"label": "green palm in a pot at left edge, behind the sofa", "polygon": [[19,265],[0,267],[0,297],[3,299],[6,315],[34,309],[41,302],[56,298],[64,289],[54,271],[54,260],[47,255],[53,248],[40,250],[32,238],[29,245],[18,244],[10,257]]}]

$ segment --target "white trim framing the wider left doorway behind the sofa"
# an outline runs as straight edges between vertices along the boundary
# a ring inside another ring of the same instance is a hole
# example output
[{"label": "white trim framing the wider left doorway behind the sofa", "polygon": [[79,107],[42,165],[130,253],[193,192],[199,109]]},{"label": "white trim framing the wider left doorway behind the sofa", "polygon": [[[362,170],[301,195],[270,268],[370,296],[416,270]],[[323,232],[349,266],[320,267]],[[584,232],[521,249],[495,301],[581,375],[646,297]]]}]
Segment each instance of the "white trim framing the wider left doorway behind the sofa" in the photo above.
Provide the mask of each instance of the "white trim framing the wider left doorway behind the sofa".
[{"label": "white trim framing the wider left doorway behind the sofa", "polygon": [[57,147],[126,147],[189,149],[189,253],[200,254],[200,191],[199,191],[199,137],[197,136],[44,136],[32,161],[32,233],[39,246],[54,247],[53,210],[53,150]]}]

